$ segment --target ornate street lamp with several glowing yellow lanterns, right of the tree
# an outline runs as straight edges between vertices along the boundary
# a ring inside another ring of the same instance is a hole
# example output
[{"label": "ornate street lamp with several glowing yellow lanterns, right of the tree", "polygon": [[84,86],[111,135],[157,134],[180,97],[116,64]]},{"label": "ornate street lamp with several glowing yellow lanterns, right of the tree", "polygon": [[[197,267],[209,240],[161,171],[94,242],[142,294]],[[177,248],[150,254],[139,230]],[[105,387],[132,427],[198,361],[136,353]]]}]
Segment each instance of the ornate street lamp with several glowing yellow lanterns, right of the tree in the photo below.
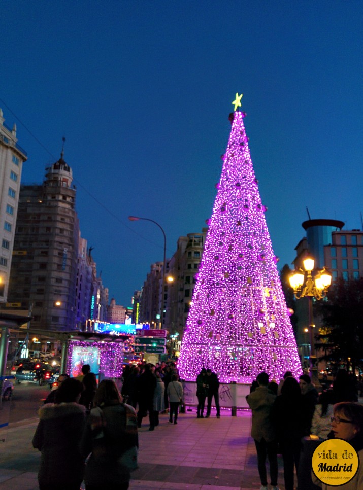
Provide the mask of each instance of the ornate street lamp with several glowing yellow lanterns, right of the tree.
[{"label": "ornate street lamp with several glowing yellow lanterns, right of the tree", "polygon": [[[325,298],[329,286],[332,283],[332,274],[326,267],[318,269],[314,272],[314,259],[307,257],[303,260],[304,269],[294,270],[290,277],[290,286],[296,299],[307,297],[309,300],[309,333],[310,333],[310,366],[313,366],[312,357],[315,355],[315,342],[313,335],[313,304],[312,299],[317,300]],[[306,330],[304,330],[306,331]],[[311,373],[312,374],[312,373]]]}]

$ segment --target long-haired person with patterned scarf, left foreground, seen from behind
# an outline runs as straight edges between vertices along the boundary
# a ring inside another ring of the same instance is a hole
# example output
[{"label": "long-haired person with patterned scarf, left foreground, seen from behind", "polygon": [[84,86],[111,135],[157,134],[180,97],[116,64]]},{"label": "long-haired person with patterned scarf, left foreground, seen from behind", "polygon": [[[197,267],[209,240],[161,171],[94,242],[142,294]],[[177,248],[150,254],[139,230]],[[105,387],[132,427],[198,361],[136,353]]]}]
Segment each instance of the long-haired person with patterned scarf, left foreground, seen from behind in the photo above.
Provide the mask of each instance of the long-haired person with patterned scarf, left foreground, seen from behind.
[{"label": "long-haired person with patterned scarf, left foreground, seen from behind", "polygon": [[80,447],[89,456],[86,490],[127,490],[130,470],[122,462],[127,449],[139,446],[136,411],[122,403],[116,384],[104,379],[96,391]]}]

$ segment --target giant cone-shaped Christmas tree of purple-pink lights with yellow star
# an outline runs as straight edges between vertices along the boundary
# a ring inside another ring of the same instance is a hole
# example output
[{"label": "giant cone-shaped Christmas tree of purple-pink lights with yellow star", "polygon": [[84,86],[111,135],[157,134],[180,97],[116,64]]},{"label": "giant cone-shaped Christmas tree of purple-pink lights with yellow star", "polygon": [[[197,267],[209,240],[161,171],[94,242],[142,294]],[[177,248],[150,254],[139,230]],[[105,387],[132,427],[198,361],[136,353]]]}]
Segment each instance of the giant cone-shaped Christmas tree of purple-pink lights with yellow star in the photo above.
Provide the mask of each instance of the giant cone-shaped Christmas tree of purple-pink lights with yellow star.
[{"label": "giant cone-shaped Christmas tree of purple-pink lights with yellow star", "polygon": [[301,374],[285,298],[243,124],[242,95],[196,274],[179,358],[182,379],[202,367],[224,382],[250,383],[261,371]]}]

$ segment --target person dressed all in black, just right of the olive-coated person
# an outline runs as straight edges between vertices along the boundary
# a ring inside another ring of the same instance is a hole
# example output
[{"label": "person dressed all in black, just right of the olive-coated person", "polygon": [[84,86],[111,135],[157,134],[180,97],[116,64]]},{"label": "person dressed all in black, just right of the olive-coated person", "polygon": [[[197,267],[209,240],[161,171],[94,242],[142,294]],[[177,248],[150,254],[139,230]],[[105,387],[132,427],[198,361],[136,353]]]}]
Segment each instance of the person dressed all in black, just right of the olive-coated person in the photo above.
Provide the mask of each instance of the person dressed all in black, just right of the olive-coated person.
[{"label": "person dressed all in black, just right of the olive-coated person", "polygon": [[271,409],[271,422],[275,427],[284,462],[285,490],[293,490],[294,465],[299,471],[301,439],[304,433],[304,408],[298,381],[287,377]]}]

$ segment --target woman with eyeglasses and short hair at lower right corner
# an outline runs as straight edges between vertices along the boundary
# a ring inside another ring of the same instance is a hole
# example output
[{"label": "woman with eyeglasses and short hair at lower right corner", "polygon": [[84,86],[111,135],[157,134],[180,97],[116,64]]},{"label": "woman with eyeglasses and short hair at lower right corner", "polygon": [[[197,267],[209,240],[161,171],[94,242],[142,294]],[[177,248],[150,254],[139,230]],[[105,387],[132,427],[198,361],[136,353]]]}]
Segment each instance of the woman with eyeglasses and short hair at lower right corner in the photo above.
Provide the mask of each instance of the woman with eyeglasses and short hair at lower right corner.
[{"label": "woman with eyeglasses and short hair at lower right corner", "polygon": [[[363,461],[363,405],[353,402],[341,402],[334,405],[332,433],[337,439],[348,441],[357,451],[360,462]],[[336,488],[326,485],[313,476],[315,485],[323,490]],[[352,480],[344,485],[344,490],[361,490],[363,488],[363,465]]]}]

